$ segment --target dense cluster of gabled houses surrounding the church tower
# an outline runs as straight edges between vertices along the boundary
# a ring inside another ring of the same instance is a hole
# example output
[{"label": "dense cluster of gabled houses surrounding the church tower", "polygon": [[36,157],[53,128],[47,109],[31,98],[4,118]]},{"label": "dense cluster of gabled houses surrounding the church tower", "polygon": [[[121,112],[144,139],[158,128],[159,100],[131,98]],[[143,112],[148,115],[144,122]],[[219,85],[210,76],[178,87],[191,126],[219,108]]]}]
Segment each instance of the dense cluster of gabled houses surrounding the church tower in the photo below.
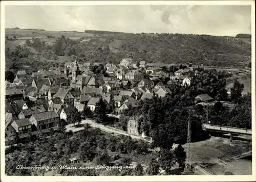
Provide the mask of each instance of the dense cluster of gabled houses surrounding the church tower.
[{"label": "dense cluster of gabled houses surrounding the church tower", "polygon": [[[31,75],[19,70],[13,83],[6,81],[6,139],[27,138],[38,131],[47,133],[50,128],[57,128],[60,120],[70,123],[69,116],[74,108],[81,112],[88,106],[94,111],[100,97],[110,103],[111,93],[117,114],[130,106],[136,107],[138,100],[172,94],[165,85],[154,86],[156,77],[166,76],[161,68],[147,67],[144,61],[137,67],[131,59],[123,59],[119,65],[108,63],[104,66],[108,77],[95,75],[90,64],[81,65],[77,61],[59,68],[38,70]],[[150,78],[144,77],[141,68]],[[193,69],[180,69],[169,76],[167,84],[190,85],[195,74]]]}]

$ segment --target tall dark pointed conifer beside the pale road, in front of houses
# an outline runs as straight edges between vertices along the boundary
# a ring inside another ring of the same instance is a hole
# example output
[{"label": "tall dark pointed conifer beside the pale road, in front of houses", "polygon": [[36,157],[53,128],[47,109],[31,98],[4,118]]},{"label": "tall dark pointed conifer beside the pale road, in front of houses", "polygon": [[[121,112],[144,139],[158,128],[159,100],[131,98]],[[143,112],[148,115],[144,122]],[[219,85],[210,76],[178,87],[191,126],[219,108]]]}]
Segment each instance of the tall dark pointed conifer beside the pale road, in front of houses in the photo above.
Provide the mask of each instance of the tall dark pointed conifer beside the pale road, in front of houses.
[{"label": "tall dark pointed conifer beside the pale road, in front of houses", "polygon": [[107,105],[105,101],[100,97],[100,100],[96,103],[94,110],[94,118],[97,123],[103,123],[106,120]]}]

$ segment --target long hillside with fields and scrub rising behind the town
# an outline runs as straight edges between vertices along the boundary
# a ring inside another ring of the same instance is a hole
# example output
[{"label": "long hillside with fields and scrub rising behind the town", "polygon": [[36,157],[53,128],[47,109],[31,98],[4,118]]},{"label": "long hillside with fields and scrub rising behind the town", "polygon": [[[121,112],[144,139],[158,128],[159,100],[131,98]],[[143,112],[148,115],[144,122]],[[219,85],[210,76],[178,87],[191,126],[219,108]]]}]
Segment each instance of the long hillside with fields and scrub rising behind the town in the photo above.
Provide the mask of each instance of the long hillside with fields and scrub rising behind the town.
[{"label": "long hillside with fields and scrub rising behind the town", "polygon": [[[119,62],[132,56],[135,62],[164,64],[203,64],[210,66],[244,67],[251,60],[250,39],[185,34],[131,34],[108,31],[44,31],[6,29],[6,48],[17,45],[34,48],[38,55],[48,60],[42,51],[57,56],[72,56],[80,61]],[[239,37],[239,36],[238,36]],[[28,45],[26,40],[38,39],[38,44]],[[41,43],[39,43],[41,44]],[[33,51],[33,57],[35,57]],[[38,56],[36,55],[36,56]],[[11,58],[8,58],[10,60]]]}]

